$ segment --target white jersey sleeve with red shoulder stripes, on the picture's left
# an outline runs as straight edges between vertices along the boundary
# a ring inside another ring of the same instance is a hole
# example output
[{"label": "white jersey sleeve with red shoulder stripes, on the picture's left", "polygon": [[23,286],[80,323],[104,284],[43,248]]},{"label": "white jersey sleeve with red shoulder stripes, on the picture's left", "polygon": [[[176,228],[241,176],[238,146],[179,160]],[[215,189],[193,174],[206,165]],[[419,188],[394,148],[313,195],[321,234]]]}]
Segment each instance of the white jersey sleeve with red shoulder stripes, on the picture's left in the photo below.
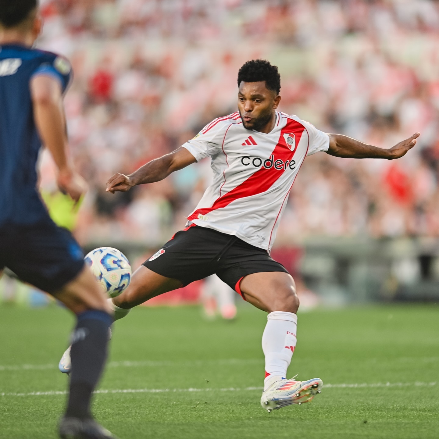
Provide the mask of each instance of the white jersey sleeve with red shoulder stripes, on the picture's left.
[{"label": "white jersey sleeve with red shoulder stripes, on the picture's left", "polygon": [[182,147],[186,148],[197,162],[202,158],[216,155],[222,150],[225,130],[229,125],[222,121],[216,122],[216,120],[213,120]]}]

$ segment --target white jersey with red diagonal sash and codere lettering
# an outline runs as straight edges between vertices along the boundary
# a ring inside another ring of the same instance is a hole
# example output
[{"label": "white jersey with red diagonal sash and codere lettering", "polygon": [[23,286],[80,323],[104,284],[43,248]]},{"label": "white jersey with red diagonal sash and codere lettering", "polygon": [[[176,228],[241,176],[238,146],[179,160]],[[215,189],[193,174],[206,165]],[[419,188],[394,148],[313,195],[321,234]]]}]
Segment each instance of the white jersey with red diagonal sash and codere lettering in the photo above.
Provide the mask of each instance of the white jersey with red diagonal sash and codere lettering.
[{"label": "white jersey with red diagonal sash and codere lettering", "polygon": [[246,130],[233,113],[206,125],[183,147],[197,161],[210,156],[213,170],[213,183],[187,219],[270,251],[303,160],[327,151],[329,136],[281,112],[270,133]]}]

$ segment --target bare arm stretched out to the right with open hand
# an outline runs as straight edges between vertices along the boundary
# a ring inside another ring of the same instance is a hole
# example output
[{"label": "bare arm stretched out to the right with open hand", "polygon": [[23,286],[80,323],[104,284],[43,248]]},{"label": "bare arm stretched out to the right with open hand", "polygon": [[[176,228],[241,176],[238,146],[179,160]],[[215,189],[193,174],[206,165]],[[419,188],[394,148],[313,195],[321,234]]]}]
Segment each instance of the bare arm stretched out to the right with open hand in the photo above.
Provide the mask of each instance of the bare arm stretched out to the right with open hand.
[{"label": "bare arm stretched out to the right with open hand", "polygon": [[355,140],[352,137],[341,134],[329,134],[329,149],[327,153],[335,157],[345,158],[387,158],[392,160],[400,158],[416,144],[420,133],[414,133],[402,142],[399,142],[390,149],[378,148]]}]

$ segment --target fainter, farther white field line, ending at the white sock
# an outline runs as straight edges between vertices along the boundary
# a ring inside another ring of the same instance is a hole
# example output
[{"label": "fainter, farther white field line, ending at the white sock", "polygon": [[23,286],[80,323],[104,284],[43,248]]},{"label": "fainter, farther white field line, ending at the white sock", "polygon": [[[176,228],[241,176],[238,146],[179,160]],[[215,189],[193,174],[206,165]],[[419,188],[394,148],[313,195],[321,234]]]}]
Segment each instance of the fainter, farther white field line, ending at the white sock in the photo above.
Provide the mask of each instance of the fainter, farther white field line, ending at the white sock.
[{"label": "fainter, farther white field line, ending at the white sock", "polygon": [[[189,361],[110,361],[106,367],[164,367],[164,366],[204,366],[204,365],[234,365],[234,364],[263,364],[263,359],[249,358],[247,360],[230,358],[227,360],[189,360]],[[43,371],[58,369],[58,364],[20,364],[18,366],[0,366],[4,371]]]}]

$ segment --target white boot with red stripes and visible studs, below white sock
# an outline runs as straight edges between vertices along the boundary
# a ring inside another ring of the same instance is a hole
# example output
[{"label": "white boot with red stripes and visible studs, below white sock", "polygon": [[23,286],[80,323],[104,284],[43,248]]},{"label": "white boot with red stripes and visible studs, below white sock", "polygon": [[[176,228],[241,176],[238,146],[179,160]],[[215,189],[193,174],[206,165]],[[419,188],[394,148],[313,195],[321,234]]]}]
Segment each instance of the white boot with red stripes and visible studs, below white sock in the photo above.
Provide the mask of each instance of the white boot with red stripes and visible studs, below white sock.
[{"label": "white boot with red stripes and visible studs, below white sock", "polygon": [[283,378],[275,381],[262,393],[261,406],[269,413],[291,404],[302,404],[311,401],[323,386],[320,378],[308,381],[294,381]]}]

